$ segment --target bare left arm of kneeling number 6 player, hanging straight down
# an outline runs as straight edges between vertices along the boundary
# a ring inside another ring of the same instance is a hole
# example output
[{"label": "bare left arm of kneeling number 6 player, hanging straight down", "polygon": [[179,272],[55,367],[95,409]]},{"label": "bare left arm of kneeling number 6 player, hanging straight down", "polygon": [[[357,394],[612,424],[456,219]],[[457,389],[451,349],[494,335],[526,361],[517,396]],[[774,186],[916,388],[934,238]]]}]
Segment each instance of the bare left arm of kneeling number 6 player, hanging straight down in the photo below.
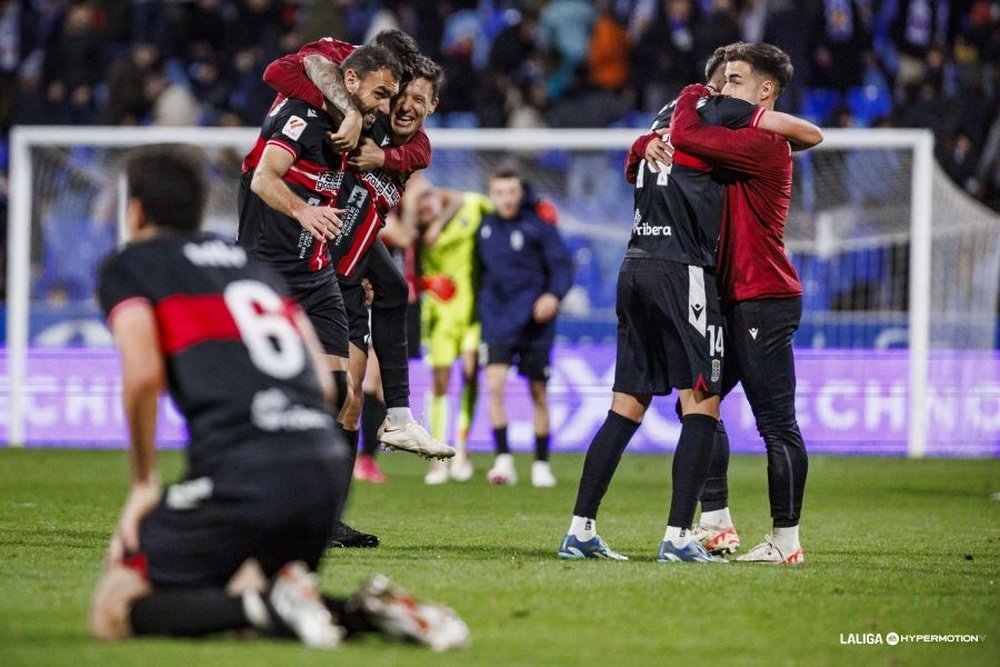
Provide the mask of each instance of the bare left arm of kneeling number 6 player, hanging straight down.
[{"label": "bare left arm of kneeling number 6 player, hanging straight down", "polygon": [[122,402],[129,432],[131,484],[109,557],[120,560],[139,550],[139,524],[160,500],[156,472],[156,416],[166,370],[160,353],[156,315],[140,298],[120,303],[109,317],[121,353]]}]

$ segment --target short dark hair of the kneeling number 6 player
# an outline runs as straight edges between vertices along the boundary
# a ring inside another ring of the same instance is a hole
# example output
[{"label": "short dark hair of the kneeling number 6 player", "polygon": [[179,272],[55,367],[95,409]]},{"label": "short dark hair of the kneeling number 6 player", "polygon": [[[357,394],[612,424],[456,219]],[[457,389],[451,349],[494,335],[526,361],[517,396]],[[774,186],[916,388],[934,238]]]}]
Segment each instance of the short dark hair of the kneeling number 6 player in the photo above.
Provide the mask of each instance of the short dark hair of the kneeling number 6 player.
[{"label": "short dark hair of the kneeling number 6 player", "polygon": [[153,144],[125,158],[128,196],[138,199],[157,227],[196,232],[201,227],[208,181],[201,151],[183,144]]}]

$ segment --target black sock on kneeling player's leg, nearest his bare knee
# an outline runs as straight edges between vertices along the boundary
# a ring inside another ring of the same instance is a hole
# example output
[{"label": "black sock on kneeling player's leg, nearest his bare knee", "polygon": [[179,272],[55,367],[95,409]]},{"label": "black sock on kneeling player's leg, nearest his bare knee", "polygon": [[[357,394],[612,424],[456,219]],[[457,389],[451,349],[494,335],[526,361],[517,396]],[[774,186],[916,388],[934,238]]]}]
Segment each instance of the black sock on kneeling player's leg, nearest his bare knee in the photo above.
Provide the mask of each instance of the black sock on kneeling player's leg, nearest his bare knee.
[{"label": "black sock on kneeling player's leg, nearest his bare knee", "polygon": [[129,613],[137,635],[201,637],[251,627],[243,600],[221,588],[154,590],[132,605]]}]

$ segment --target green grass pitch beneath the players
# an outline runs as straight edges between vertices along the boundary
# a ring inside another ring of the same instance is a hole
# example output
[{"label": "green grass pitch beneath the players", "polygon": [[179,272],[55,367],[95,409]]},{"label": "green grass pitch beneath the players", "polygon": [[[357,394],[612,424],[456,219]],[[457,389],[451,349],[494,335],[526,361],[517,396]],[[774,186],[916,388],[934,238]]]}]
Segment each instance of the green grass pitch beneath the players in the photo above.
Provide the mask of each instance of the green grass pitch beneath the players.
[{"label": "green grass pitch beneath the players", "polygon": [[[292,642],[137,640],[101,645],[84,618],[120,504],[123,452],[0,449],[0,665],[997,665],[998,460],[813,457],[806,563],[661,565],[670,459],[628,456],[600,532],[627,563],[562,562],[582,457],[560,484],[426,487],[425,465],[382,455],[384,486],[355,484],[347,513],[377,550],[330,552],[323,587],[347,593],[384,572],[448,602],[473,645],[430,651],[368,638],[335,655]],[[518,457],[527,478],[528,459]],[[177,453],[161,455],[164,479]],[[730,498],[744,546],[767,532],[765,461],[736,457]],[[850,633],[985,635],[979,643],[843,644]]]}]

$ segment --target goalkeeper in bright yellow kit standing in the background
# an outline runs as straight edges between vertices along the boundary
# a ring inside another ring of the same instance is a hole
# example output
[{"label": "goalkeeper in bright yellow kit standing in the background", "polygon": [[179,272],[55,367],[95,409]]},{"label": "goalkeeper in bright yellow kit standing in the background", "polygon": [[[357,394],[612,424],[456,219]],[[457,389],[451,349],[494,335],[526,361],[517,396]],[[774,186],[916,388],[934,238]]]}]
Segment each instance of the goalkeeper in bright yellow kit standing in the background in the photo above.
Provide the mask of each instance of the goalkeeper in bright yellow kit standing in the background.
[{"label": "goalkeeper in bright yellow kit standing in the background", "polygon": [[[465,482],[472,477],[469,429],[479,394],[476,316],[476,235],[483,216],[493,212],[485,195],[435,188],[430,181],[411,179],[421,237],[421,338],[432,369],[431,435],[444,441],[448,429],[448,385],[455,360],[462,360],[462,398],[455,432],[455,457],[450,469],[431,462],[427,484],[444,484],[448,477]],[[405,207],[404,207],[405,210]]]}]

